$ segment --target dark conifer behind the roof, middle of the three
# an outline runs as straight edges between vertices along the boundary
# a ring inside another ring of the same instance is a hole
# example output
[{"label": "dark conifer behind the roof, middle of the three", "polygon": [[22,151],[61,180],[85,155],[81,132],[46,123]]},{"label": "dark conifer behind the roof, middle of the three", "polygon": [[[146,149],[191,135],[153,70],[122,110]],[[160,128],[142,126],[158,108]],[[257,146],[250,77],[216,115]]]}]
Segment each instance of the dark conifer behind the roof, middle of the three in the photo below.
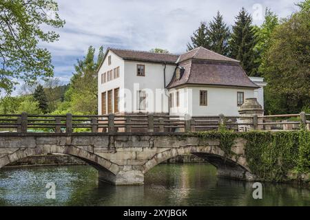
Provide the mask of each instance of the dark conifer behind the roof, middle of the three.
[{"label": "dark conifer behind the roof, middle of the three", "polygon": [[224,56],[228,55],[229,45],[228,40],[230,31],[223,21],[223,16],[218,12],[214,21],[209,23],[208,30],[210,49]]}]

